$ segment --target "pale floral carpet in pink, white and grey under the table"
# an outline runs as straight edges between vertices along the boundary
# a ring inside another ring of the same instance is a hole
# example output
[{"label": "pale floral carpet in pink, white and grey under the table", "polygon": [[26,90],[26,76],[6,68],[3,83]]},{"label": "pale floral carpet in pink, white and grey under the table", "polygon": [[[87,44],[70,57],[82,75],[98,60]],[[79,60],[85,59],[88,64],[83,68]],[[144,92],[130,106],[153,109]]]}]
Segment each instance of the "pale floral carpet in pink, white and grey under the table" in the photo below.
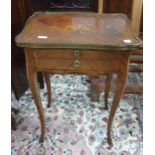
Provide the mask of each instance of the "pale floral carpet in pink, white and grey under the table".
[{"label": "pale floral carpet in pink, white and grey under the table", "polygon": [[[105,78],[99,79],[104,88]],[[113,79],[115,81],[115,78]],[[142,83],[142,74],[129,74],[128,83]],[[114,82],[115,84],[115,82]],[[12,130],[12,155],[142,155],[142,94],[124,94],[117,109],[113,126],[113,147],[107,144],[109,110],[104,106],[104,92],[99,102],[91,102],[91,82],[86,75],[51,76],[53,102],[47,108],[46,88],[40,90],[46,115],[46,136],[39,143],[40,122],[28,90],[16,101],[12,94],[12,107],[17,130]],[[113,92],[110,92],[109,107]]]}]

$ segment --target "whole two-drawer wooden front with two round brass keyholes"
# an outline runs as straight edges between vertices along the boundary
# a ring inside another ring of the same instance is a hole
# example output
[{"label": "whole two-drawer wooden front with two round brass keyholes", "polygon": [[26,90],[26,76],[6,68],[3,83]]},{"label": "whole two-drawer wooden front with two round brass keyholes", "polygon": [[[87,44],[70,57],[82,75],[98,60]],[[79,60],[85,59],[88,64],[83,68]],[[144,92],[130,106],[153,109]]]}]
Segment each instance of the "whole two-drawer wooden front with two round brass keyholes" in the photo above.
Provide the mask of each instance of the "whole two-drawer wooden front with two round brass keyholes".
[{"label": "whole two-drawer wooden front with two round brass keyholes", "polygon": [[116,71],[121,58],[119,52],[77,49],[37,49],[34,56],[38,70],[71,69]]}]

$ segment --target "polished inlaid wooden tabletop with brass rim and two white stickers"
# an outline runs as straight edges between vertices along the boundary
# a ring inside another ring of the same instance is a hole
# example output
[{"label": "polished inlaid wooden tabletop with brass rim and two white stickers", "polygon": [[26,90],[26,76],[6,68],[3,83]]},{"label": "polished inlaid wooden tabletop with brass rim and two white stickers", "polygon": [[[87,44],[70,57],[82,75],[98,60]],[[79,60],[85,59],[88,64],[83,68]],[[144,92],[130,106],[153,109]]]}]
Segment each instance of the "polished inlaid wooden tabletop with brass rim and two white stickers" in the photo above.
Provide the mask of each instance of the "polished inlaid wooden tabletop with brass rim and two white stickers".
[{"label": "polished inlaid wooden tabletop with brass rim and two white stickers", "polygon": [[16,37],[21,47],[133,48],[141,44],[125,14],[37,12]]}]

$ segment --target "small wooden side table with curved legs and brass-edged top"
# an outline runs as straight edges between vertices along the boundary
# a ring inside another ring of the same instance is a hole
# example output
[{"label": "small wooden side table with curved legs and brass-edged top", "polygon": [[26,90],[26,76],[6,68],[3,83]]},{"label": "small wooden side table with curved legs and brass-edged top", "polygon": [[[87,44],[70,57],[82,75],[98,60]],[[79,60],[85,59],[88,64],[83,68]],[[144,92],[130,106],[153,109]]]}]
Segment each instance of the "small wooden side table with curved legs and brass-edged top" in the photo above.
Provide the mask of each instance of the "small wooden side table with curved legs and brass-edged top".
[{"label": "small wooden side table with curved legs and brass-edged top", "polygon": [[36,12],[16,37],[16,43],[25,51],[29,86],[40,116],[41,142],[45,136],[45,114],[37,85],[37,72],[80,73],[91,77],[107,74],[106,98],[111,75],[117,74],[117,88],[107,128],[108,143],[112,144],[112,121],[126,83],[130,51],[141,44],[127,16]]}]

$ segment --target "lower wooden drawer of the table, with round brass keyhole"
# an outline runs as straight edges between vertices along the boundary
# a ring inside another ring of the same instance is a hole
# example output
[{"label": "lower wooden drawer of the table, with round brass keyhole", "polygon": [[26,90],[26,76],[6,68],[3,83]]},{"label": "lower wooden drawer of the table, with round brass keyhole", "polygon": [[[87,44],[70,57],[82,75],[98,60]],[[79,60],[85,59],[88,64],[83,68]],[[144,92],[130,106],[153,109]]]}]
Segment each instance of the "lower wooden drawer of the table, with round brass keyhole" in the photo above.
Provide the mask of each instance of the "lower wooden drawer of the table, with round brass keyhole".
[{"label": "lower wooden drawer of the table, with round brass keyhole", "polygon": [[90,59],[36,59],[38,70],[43,69],[80,69],[80,70],[117,70],[118,60],[90,60]]}]

